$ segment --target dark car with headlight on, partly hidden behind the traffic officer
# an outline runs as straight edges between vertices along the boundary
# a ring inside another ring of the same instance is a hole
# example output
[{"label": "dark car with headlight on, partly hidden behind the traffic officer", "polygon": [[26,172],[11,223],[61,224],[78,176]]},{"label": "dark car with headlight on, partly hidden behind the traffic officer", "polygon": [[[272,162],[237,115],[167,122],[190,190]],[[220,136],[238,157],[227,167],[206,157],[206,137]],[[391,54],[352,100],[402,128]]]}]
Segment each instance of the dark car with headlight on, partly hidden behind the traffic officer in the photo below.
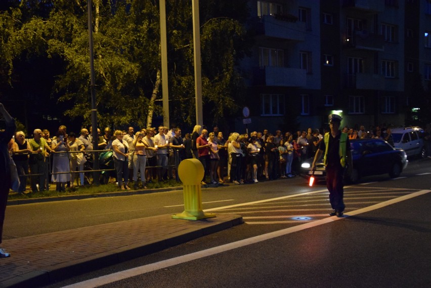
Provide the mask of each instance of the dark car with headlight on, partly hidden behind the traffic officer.
[{"label": "dark car with headlight on, partly hidden behind the traffic officer", "polygon": [[[350,140],[353,157],[353,169],[348,169],[346,180],[356,183],[363,176],[388,173],[391,178],[400,176],[407,167],[407,154],[403,149],[393,148],[381,139]],[[301,165],[300,174],[304,178],[311,175],[313,158]],[[316,163],[314,176],[317,180],[326,179],[325,167],[322,160]]]}]

